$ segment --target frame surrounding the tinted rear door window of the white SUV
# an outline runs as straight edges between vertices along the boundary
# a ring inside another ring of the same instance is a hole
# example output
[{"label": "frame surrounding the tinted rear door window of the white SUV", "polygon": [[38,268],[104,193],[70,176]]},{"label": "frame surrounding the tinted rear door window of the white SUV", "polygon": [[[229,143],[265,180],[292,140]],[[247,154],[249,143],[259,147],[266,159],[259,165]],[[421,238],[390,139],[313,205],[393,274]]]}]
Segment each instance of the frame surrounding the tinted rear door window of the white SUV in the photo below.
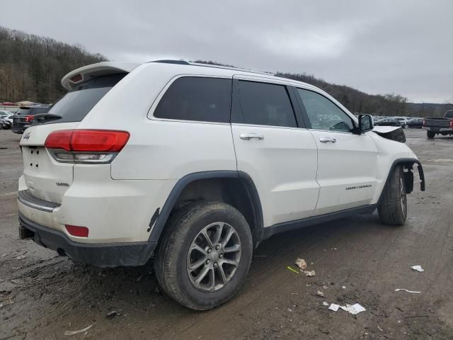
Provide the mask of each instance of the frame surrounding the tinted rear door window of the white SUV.
[{"label": "frame surrounding the tinted rear door window of the white SUV", "polygon": [[[261,84],[270,84],[270,85],[278,85],[284,86],[287,92],[287,96],[289,99],[289,103],[292,107],[292,113],[294,115],[294,120],[296,122],[296,126],[280,126],[280,125],[262,125],[262,124],[252,124],[246,122],[234,122],[233,115],[239,108],[239,81],[251,81],[254,83],[261,83]],[[306,125],[304,124],[304,120],[302,120],[302,116],[300,115],[300,108],[297,104],[297,98],[294,98],[294,94],[292,94],[292,90],[290,89],[290,85],[286,81],[275,81],[272,78],[266,77],[246,77],[245,75],[234,75],[233,76],[233,90],[231,91],[231,110],[230,110],[230,122],[234,125],[244,125],[244,126],[255,126],[255,127],[262,127],[262,128],[282,128],[282,129],[306,129]]]}]

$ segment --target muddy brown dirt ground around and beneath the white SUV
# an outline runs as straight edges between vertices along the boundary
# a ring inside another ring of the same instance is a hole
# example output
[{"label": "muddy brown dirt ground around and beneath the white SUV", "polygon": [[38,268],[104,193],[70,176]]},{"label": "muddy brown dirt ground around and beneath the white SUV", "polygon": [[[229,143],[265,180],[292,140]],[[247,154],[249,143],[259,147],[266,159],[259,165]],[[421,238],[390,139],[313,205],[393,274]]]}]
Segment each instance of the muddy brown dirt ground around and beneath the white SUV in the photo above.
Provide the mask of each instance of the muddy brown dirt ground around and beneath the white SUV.
[{"label": "muddy brown dirt ground around and beneath the white SUV", "polygon": [[[453,137],[405,131],[427,191],[415,186],[404,227],[385,227],[374,213],[271,237],[234,299],[193,312],[160,293],[151,264],[93,268],[18,239],[20,136],[0,130],[0,340],[453,339]],[[316,276],[289,271],[297,257]],[[411,270],[417,264],[423,273]]]}]

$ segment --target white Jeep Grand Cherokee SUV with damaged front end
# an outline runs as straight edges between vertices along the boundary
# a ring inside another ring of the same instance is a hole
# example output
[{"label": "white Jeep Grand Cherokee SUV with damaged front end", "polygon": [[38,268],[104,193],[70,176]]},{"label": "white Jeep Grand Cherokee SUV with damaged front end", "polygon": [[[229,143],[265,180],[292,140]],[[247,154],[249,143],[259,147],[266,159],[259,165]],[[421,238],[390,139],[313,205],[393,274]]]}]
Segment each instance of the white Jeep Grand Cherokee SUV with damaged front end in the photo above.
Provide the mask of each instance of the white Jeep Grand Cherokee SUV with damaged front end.
[{"label": "white Jeep Grand Cherokee SUV with damaged front end", "polygon": [[424,190],[409,147],[309,84],[162,60],[62,85],[21,138],[21,237],[94,266],[154,257],[195,310],[234,295],[263,239],[376,208],[403,225],[413,164]]}]

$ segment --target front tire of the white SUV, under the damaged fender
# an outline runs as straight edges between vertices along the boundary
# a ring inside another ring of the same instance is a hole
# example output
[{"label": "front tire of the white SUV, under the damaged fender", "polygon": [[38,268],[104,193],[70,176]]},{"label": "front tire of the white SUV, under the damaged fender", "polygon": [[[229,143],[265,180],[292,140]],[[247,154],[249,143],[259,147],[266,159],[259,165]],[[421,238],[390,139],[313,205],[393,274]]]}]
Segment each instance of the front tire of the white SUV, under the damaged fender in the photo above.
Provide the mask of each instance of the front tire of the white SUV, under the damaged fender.
[{"label": "front tire of the white SUV, under the damaged fender", "polygon": [[402,166],[396,166],[389,175],[377,211],[379,219],[386,225],[403,225],[406,222],[408,201]]}]

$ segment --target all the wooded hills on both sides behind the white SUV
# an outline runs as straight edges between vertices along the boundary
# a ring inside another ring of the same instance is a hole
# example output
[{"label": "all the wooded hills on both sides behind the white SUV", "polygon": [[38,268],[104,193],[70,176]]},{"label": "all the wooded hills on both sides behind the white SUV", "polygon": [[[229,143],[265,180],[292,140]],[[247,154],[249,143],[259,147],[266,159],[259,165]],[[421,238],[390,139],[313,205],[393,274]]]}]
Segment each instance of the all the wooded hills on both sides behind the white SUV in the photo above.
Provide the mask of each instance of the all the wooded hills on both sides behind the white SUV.
[{"label": "all the wooded hills on both sides behind the white SUV", "polygon": [[[103,55],[88,52],[81,45],[68,45],[0,26],[0,102],[53,103],[65,92],[60,84],[64,74],[77,67],[105,60]],[[231,66],[211,61],[197,62]],[[398,94],[369,95],[304,73],[278,73],[277,76],[318,86],[353,113],[423,117],[439,116],[447,108],[453,108],[447,104],[408,103],[407,98]]]}]

